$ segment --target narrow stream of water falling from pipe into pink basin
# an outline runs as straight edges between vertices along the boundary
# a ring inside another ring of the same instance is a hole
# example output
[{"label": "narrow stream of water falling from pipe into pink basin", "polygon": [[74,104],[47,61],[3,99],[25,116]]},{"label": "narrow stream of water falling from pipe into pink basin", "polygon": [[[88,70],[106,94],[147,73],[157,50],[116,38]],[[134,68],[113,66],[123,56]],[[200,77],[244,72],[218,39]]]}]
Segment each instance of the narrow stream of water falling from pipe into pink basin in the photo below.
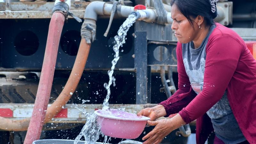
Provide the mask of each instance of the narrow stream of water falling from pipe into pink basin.
[{"label": "narrow stream of water falling from pipe into pink basin", "polygon": [[125,43],[125,36],[127,35],[127,31],[129,30],[129,28],[132,26],[132,24],[136,21],[136,15],[135,14],[131,14],[128,16],[128,18],[124,21],[124,23],[121,25],[121,27],[119,28],[117,35],[115,36],[115,40],[116,40],[116,44],[113,46],[113,50],[114,52],[116,52],[115,56],[114,56],[114,60],[112,60],[112,67],[111,70],[108,71],[108,76],[109,76],[109,81],[108,84],[105,83],[104,87],[107,89],[108,93],[107,96],[103,102],[103,108],[102,109],[108,109],[108,100],[109,100],[109,96],[110,96],[110,85],[112,83],[115,84],[115,78],[113,76],[114,73],[114,69],[115,69],[115,65],[117,63],[117,61],[119,60],[119,47],[123,46],[123,44]]}]

